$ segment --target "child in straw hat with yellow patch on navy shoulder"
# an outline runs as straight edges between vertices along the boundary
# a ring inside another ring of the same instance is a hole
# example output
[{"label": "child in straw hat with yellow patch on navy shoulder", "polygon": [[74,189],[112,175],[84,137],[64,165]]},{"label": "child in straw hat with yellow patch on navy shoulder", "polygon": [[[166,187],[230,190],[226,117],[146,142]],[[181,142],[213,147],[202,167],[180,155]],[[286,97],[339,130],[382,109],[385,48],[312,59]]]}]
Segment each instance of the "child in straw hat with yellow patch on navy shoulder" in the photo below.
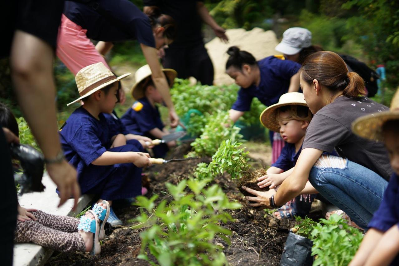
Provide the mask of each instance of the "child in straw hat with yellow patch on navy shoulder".
[{"label": "child in straw hat with yellow patch on navy shoulder", "polygon": [[[163,72],[172,87],[177,73],[173,69],[165,68]],[[164,128],[161,115],[156,104],[162,104],[163,99],[151,79],[151,69],[148,65],[140,67],[134,74],[136,83],[132,87],[132,96],[136,99],[120,118],[127,131],[131,134],[142,135],[150,139],[162,139],[169,132]],[[164,158],[170,147],[176,146],[176,141],[161,143],[152,148],[156,158]]]}]

